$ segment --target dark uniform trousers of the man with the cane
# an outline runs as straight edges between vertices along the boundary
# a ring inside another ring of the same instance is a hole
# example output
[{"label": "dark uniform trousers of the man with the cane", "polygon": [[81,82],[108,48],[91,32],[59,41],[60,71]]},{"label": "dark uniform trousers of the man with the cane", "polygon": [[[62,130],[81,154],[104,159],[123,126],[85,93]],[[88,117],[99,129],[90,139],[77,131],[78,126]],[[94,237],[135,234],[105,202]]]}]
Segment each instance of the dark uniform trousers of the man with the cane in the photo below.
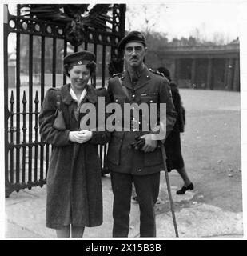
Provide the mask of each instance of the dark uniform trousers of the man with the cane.
[{"label": "dark uniform trousers of the man with the cane", "polygon": [[140,236],[155,237],[154,205],[159,194],[160,173],[137,176],[112,172],[111,182],[114,192],[113,237],[128,237],[132,182],[140,207]]}]

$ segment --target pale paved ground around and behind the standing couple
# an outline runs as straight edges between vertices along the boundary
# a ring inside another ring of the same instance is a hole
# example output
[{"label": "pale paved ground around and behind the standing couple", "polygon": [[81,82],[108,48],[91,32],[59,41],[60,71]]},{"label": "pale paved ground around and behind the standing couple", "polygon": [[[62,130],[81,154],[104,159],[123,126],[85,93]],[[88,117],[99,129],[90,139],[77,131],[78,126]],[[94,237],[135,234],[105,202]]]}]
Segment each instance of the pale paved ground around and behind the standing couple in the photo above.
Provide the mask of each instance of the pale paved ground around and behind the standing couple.
[{"label": "pale paved ground around and behind the standing couple", "polygon": [[[169,174],[177,226],[181,238],[225,238],[243,235],[241,193],[240,94],[237,92],[181,89],[186,109],[181,134],[185,166],[195,189],[177,195],[181,178]],[[110,176],[102,178],[104,223],[86,229],[87,238],[110,238],[112,191]],[[45,227],[46,186],[21,190],[6,198],[6,238],[51,238]],[[175,237],[173,219],[161,173],[157,212],[157,237]],[[129,237],[139,236],[139,210],[132,203]]]}]

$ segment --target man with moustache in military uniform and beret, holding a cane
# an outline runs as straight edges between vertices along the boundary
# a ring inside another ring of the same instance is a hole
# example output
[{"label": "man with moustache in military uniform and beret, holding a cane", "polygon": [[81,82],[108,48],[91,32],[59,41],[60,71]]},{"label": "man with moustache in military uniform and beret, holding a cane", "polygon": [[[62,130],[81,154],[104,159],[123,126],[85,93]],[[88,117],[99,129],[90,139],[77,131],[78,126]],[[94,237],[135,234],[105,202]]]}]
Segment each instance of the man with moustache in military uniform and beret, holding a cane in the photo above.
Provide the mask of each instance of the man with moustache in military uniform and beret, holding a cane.
[{"label": "man with moustache in military uniform and beret, holding a cane", "polygon": [[[110,101],[120,104],[122,109],[125,103],[166,103],[165,116],[159,116],[158,119],[160,127],[161,123],[165,124],[167,136],[173,129],[177,114],[168,80],[149,70],[144,64],[146,50],[145,37],[140,32],[132,31],[122,38],[118,51],[124,55],[125,70],[110,78],[108,93]],[[129,234],[133,183],[140,206],[140,236],[155,237],[154,205],[159,193],[160,171],[164,170],[161,149],[155,132],[138,130],[137,128],[141,127],[141,119],[138,122],[133,118],[133,114],[131,117],[129,131],[112,133],[107,153],[114,193],[113,236],[127,237]],[[122,126],[125,123],[123,119],[122,114]],[[137,137],[145,139],[145,145],[140,149],[131,146]]]}]

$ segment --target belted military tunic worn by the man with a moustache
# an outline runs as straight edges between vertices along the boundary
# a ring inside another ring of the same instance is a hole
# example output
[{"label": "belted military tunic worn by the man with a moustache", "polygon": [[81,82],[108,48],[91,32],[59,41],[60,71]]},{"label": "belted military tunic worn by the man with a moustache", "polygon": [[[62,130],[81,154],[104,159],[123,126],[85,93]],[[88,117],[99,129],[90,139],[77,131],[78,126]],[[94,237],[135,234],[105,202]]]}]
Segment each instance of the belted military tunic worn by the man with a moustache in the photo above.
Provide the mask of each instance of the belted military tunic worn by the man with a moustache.
[{"label": "belted military tunic worn by the man with a moustache", "polygon": [[[126,96],[122,86],[128,90],[130,99]],[[145,66],[141,77],[133,88],[129,74],[125,70],[122,74],[110,78],[107,90],[110,101],[118,103],[122,110],[124,103],[166,103],[165,117],[157,117],[157,119],[166,118],[166,134],[173,130],[177,113],[173,106],[169,82],[161,74],[156,74]],[[122,124],[124,123],[123,119],[124,114],[122,113]],[[133,175],[147,175],[164,170],[160,148],[157,147],[153,152],[145,153],[142,150],[134,150],[130,145],[136,136],[149,133],[152,131],[114,131],[111,134],[107,152],[107,164],[110,166],[110,170]]]}]

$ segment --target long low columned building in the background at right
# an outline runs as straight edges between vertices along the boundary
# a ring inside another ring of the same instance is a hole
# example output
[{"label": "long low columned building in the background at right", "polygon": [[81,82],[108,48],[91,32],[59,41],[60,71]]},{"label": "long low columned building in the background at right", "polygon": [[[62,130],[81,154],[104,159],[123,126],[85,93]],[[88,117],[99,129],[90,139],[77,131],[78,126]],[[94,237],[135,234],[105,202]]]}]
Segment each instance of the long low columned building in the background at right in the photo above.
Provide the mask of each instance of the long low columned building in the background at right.
[{"label": "long low columned building in the background at right", "polygon": [[240,91],[238,38],[224,46],[165,46],[146,59],[153,69],[166,66],[179,87]]}]

